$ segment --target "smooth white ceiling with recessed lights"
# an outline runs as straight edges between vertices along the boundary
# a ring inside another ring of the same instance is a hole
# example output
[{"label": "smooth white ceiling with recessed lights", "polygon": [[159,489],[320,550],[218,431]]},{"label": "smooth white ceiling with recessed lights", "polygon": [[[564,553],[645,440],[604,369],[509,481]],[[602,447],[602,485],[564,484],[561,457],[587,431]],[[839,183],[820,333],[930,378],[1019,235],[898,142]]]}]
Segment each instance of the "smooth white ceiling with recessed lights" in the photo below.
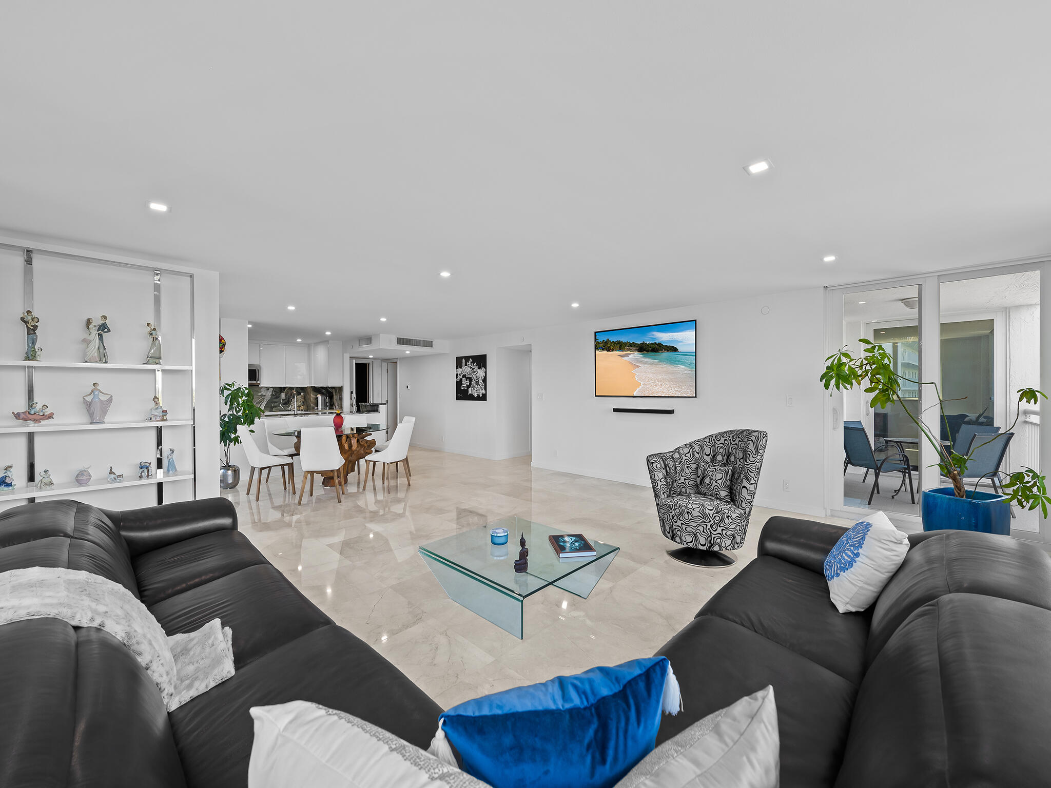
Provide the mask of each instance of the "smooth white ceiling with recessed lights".
[{"label": "smooth white ceiling with recessed lights", "polygon": [[225,316],[305,341],[1034,255],[1049,27],[1042,0],[6,3],[0,228],[218,268]]}]

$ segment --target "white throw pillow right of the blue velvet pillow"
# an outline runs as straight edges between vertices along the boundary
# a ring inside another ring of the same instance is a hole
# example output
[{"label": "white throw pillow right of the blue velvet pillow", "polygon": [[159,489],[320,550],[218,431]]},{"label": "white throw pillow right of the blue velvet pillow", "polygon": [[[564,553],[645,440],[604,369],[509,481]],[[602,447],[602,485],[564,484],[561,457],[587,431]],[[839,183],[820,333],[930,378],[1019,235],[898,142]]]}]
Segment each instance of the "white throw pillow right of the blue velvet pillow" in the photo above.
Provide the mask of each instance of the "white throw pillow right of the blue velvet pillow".
[{"label": "white throw pillow right of the blue velvet pillow", "polygon": [[655,749],[616,788],[778,788],[774,687],[708,714]]}]

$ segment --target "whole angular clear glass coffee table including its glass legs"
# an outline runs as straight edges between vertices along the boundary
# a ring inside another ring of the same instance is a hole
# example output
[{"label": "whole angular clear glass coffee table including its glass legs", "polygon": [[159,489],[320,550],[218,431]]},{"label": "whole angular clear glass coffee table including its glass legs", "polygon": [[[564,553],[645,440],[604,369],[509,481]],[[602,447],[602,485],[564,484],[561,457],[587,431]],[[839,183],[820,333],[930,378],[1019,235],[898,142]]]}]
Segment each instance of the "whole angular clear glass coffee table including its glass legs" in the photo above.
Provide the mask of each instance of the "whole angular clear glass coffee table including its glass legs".
[{"label": "whole angular clear glass coffee table including its glass legs", "polygon": [[[489,532],[496,527],[508,530],[507,544],[490,542]],[[508,517],[424,544],[419,555],[451,600],[521,638],[522,605],[527,597],[554,585],[588,599],[620,552],[620,547],[588,537],[595,547],[594,556],[559,559],[548,537],[565,533],[564,528],[558,531],[520,517]],[[529,568],[516,573],[518,539],[522,534],[529,547]]]}]

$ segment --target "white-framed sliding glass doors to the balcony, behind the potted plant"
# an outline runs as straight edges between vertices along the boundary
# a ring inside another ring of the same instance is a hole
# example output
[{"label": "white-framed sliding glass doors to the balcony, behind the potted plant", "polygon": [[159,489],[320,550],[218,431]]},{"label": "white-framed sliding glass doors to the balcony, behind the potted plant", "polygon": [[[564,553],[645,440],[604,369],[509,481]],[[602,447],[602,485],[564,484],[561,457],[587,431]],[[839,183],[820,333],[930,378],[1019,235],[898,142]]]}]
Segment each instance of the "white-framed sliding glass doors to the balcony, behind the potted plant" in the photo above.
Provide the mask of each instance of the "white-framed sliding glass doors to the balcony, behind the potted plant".
[{"label": "white-framed sliding glass doors to the balcony, behind the potted plant", "polygon": [[[1018,389],[1051,390],[1051,341],[1040,336],[1042,290],[1051,286],[1046,266],[1039,262],[829,289],[827,352],[843,347],[858,352],[859,339],[873,341],[892,359],[902,387],[901,402],[887,408],[872,409],[871,395],[860,389],[829,398],[829,514],[860,518],[881,510],[907,531],[921,528],[920,491],[949,481],[913,418],[960,454],[983,450],[969,466],[968,489],[1000,490],[1007,475],[1023,468],[1051,472],[1040,468],[1040,457],[1051,456],[1051,445],[1044,445],[1051,435],[1040,431],[1045,400],[1019,410],[1017,399]],[[934,387],[921,381],[937,383],[944,409]],[[1013,513],[1013,536],[1051,543],[1039,512],[1014,507]]]}]

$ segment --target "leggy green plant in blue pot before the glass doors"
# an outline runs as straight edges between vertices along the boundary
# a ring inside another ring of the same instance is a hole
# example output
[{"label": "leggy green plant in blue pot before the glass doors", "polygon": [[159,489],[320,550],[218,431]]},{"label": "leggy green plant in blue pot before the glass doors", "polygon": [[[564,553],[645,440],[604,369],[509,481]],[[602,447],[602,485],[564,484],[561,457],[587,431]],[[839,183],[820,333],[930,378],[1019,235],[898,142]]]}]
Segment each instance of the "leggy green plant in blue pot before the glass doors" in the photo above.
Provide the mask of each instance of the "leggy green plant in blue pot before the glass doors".
[{"label": "leggy green plant in blue pot before the glass doors", "polygon": [[[973,490],[964,485],[963,475],[967,472],[967,463],[974,452],[986,443],[995,440],[996,435],[980,436],[966,455],[957,454],[952,447],[943,445],[939,436],[924,423],[920,414],[912,413],[901,396],[901,381],[905,378],[894,371],[893,359],[886,349],[869,339],[859,339],[862,345],[860,354],[851,353],[846,348],[838,350],[825,359],[825,371],[821,381],[825,390],[845,391],[854,386],[865,386],[865,393],[871,394],[872,408],[886,408],[898,402],[905,414],[920,430],[934,451],[937,452],[937,468],[942,475],[952,482],[951,488],[927,490],[923,493],[921,513],[924,531],[941,528],[965,528],[968,531],[987,531],[989,533],[1010,533],[1010,507],[1017,504],[1022,509],[1035,510],[1039,506],[1044,517],[1048,516],[1048,496],[1045,477],[1031,468],[1023,468],[1009,475],[1003,484],[1007,495],[983,493],[977,490],[977,481]],[[937,395],[937,407],[941,418],[948,429],[945,416],[945,400],[937,383],[920,381],[921,386],[933,386]],[[1036,389],[1018,389],[1018,405],[1014,421],[1005,431],[1010,432],[1018,422],[1022,403],[1036,405],[1040,397],[1047,399],[1047,394]]]}]

